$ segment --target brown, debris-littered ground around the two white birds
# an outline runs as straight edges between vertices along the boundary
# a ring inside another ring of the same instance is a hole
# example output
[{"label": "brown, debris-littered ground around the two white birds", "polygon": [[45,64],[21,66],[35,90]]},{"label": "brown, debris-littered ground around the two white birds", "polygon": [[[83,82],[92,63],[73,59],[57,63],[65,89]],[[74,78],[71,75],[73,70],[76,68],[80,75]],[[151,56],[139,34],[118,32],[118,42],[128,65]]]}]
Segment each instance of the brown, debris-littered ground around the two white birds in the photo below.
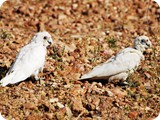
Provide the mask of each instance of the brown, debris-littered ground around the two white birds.
[{"label": "brown, debris-littered ground around the two white birds", "polygon": [[[38,31],[54,39],[45,80],[0,87],[9,120],[148,120],[160,112],[160,8],[151,0],[8,0],[0,9],[0,78]],[[153,47],[129,85],[78,79],[147,35]]]}]

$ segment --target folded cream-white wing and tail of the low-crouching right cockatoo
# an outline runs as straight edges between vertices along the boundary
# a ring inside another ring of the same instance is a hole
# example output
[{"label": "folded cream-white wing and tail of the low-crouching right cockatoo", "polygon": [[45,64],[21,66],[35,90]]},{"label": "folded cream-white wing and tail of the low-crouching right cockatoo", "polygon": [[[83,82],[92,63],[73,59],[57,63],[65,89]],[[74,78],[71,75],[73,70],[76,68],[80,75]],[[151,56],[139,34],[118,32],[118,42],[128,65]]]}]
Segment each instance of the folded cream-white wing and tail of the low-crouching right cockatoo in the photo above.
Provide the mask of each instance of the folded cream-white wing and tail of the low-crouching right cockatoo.
[{"label": "folded cream-white wing and tail of the low-crouching right cockatoo", "polygon": [[107,78],[122,72],[132,72],[137,69],[142,58],[141,52],[133,48],[126,48],[107,62],[96,66],[91,72],[83,75],[81,79]]}]

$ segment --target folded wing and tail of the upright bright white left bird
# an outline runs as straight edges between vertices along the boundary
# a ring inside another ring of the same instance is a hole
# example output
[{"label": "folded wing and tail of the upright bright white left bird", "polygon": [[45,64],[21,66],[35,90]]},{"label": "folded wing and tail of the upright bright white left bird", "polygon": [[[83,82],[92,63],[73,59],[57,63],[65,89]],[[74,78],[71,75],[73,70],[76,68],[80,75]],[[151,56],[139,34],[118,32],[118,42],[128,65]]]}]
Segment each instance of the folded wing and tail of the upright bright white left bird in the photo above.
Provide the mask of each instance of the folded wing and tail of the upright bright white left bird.
[{"label": "folded wing and tail of the upright bright white left bird", "polygon": [[30,77],[45,62],[45,48],[28,44],[23,47],[5,78],[1,80],[3,86],[14,84]]}]

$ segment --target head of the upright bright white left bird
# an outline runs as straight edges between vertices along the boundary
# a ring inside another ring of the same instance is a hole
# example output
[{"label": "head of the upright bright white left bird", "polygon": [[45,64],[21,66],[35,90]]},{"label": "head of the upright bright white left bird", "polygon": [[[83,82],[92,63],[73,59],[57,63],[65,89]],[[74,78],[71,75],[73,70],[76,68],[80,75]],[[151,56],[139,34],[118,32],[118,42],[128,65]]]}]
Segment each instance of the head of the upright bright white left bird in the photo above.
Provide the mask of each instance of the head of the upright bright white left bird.
[{"label": "head of the upright bright white left bird", "polygon": [[51,35],[48,32],[44,31],[36,33],[31,42],[42,44],[43,46],[47,47],[53,43],[53,40]]}]

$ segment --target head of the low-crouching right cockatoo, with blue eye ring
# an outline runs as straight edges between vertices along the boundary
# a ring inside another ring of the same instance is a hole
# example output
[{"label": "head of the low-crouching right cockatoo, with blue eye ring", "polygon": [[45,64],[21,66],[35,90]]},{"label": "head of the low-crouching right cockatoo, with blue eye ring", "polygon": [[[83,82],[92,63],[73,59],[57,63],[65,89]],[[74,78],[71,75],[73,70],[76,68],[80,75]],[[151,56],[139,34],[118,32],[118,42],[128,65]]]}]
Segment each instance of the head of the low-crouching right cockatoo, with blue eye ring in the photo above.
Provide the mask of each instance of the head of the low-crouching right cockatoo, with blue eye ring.
[{"label": "head of the low-crouching right cockatoo, with blue eye ring", "polygon": [[151,46],[152,43],[147,36],[139,36],[134,40],[134,48],[141,51],[142,53]]}]

